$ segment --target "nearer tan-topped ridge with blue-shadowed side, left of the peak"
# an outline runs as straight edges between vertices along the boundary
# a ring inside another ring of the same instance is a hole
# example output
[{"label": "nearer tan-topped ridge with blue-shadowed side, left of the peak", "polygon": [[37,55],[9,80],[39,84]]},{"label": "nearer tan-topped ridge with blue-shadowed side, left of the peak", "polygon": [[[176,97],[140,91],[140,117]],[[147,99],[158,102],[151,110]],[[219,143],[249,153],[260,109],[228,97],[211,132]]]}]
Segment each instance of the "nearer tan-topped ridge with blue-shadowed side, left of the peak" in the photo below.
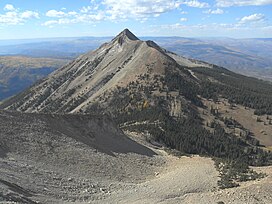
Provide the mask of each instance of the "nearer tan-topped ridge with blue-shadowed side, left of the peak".
[{"label": "nearer tan-topped ridge with blue-shadowed side, left of the peak", "polygon": [[0,56],[0,100],[19,93],[67,62],[65,59]]}]

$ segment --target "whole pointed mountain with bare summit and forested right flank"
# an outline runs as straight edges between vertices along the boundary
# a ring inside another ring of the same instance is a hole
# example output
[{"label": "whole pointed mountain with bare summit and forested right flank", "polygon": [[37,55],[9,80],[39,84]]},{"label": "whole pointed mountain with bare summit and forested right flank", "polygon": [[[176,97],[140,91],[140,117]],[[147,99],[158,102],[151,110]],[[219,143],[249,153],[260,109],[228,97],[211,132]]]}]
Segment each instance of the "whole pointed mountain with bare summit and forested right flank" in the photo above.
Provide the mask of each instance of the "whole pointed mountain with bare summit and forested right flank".
[{"label": "whole pointed mountain with bare summit and forested right flank", "polygon": [[[214,106],[205,105],[207,100]],[[230,108],[240,104],[256,115],[272,115],[270,84],[175,55],[125,30],[0,108],[105,113],[122,130],[148,133],[148,140],[182,152],[242,159],[251,165],[271,162],[250,131],[219,114],[218,104],[226,104],[224,100]],[[240,135],[231,131],[230,123]]]}]

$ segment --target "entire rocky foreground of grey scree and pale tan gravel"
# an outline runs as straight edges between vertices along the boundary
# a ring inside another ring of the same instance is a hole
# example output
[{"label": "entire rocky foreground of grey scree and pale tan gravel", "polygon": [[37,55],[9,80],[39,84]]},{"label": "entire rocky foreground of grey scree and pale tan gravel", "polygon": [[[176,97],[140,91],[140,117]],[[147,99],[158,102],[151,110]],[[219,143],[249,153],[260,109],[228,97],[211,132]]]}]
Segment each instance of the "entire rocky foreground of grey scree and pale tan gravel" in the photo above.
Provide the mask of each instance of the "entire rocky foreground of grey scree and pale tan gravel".
[{"label": "entire rocky foreground of grey scree and pale tan gravel", "polygon": [[0,203],[272,202],[272,167],[220,190],[212,159],[169,155],[106,116],[0,112],[0,129]]}]

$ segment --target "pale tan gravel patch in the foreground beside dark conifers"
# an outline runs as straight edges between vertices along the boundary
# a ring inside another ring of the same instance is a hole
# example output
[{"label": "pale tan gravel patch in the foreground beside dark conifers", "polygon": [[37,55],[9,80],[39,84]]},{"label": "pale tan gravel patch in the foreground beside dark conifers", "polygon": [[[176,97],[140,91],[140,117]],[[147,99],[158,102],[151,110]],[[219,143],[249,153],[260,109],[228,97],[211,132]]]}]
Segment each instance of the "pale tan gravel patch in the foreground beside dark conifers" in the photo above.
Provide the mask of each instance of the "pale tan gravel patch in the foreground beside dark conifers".
[{"label": "pale tan gravel patch in the foreground beside dark conifers", "polygon": [[211,159],[164,157],[169,163],[155,178],[113,192],[97,203],[180,203],[188,194],[217,189],[218,174]]}]

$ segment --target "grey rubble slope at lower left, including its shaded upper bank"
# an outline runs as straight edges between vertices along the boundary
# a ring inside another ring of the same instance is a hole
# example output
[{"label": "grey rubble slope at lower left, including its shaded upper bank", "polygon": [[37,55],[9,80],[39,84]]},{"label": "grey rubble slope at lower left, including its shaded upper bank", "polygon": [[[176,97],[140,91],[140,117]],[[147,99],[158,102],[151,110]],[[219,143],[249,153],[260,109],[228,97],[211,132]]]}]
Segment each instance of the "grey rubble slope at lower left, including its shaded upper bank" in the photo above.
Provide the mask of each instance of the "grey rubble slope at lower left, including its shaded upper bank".
[{"label": "grey rubble slope at lower left, including its shaded upper bank", "polygon": [[98,199],[165,163],[106,116],[0,111],[0,128],[0,202]]}]

